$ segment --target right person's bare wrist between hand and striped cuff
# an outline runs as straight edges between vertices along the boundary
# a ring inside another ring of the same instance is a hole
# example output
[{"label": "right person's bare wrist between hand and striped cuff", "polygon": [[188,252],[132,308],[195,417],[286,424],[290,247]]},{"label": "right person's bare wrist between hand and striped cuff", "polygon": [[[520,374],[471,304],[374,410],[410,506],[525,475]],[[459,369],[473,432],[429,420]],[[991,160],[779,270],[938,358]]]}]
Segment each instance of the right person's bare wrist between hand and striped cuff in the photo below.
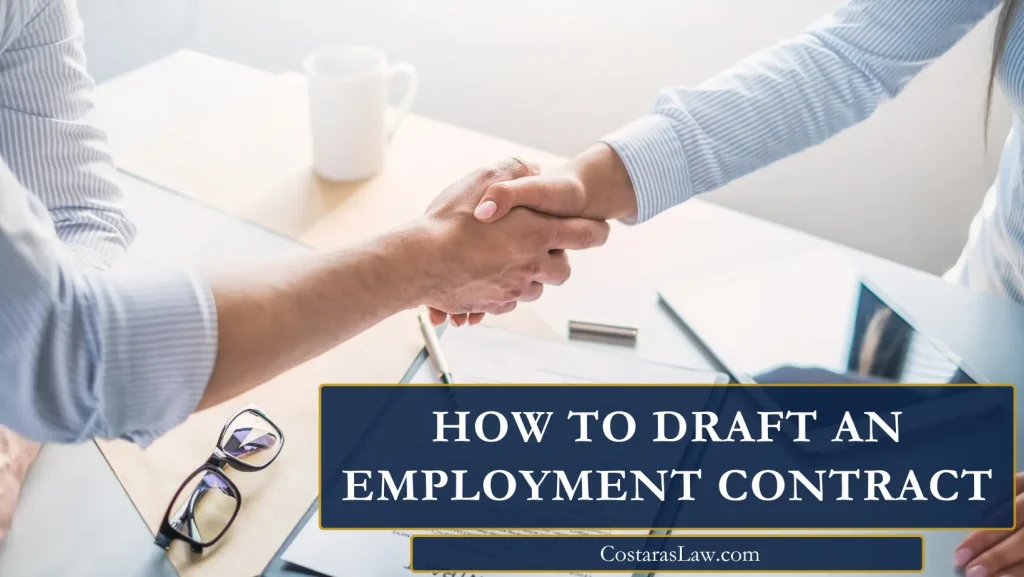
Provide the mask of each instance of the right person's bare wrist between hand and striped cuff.
[{"label": "right person's bare wrist between hand and striped cuff", "polygon": [[615,151],[599,142],[577,155],[565,167],[579,178],[585,198],[583,216],[629,219],[637,214],[637,198],[626,164]]}]

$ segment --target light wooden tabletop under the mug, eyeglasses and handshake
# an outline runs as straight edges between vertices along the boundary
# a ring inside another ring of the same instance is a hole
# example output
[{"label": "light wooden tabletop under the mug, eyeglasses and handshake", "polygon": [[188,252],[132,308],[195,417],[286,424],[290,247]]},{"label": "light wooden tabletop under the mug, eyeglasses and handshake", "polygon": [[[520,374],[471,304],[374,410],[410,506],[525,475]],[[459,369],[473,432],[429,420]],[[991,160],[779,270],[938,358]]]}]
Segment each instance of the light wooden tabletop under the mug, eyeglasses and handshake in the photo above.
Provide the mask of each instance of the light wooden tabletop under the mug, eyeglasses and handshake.
[{"label": "light wooden tabletop under the mug, eyeglasses and handshake", "polygon": [[[409,115],[391,142],[383,174],[353,184],[325,182],[311,172],[301,76],[273,75],[187,51],[100,85],[97,115],[120,169],[323,250],[371,238],[422,214],[444,187],[505,156],[542,166],[563,160]],[[537,332],[543,329],[529,311],[558,326],[582,308],[591,312],[590,320],[629,322],[621,316],[647,314],[637,312],[648,311],[650,303],[623,302],[616,287],[648,287],[679,271],[825,246],[831,245],[691,201],[642,226],[613,225],[604,248],[572,255],[569,283],[547,290],[535,306],[505,322]],[[655,298],[652,290],[643,294]],[[595,311],[606,316],[595,317]],[[287,450],[264,471],[232,476],[244,506],[214,554],[191,558],[184,547],[171,553],[183,575],[254,575],[316,494],[317,386],[396,382],[421,345],[413,315],[397,315],[242,399],[194,415],[144,451],[124,442],[100,447],[155,530],[179,483],[209,456],[224,420],[249,402],[266,410],[286,431]],[[658,351],[655,342],[644,346],[645,356],[702,363],[695,349]]]}]

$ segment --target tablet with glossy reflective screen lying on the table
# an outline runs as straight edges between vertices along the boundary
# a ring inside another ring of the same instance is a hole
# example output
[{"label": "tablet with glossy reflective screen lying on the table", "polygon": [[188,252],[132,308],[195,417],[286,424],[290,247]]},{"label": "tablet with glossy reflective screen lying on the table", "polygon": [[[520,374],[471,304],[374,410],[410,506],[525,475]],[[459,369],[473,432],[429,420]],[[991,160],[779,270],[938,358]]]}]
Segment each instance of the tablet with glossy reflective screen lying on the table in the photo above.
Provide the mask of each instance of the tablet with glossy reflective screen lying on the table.
[{"label": "tablet with glossy reflective screen lying on the table", "polygon": [[[857,396],[849,403],[828,404],[851,414],[923,404],[934,409],[927,414],[937,416],[992,408],[976,399],[985,396],[972,395],[978,388],[972,385],[985,382],[982,375],[919,330],[897,303],[836,252],[689,277],[664,287],[659,296],[736,382],[904,385],[886,395],[885,406],[872,400],[870,408],[860,409]],[[962,386],[909,386],[944,383]],[[744,389],[759,410],[813,410],[817,405],[815,394],[803,387]],[[817,390],[835,399],[846,389]],[[842,416],[819,412],[814,426],[834,430]]]}]

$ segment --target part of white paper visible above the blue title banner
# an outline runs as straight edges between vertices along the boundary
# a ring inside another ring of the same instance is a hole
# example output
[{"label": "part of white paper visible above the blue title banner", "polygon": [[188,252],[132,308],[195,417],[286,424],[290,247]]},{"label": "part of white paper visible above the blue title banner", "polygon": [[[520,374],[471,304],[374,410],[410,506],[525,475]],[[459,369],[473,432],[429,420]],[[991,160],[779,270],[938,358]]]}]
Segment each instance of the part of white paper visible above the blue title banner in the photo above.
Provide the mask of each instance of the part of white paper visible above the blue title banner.
[{"label": "part of white paper visible above the blue title banner", "polygon": [[[653,363],[484,326],[445,329],[440,338],[456,382],[721,383],[724,375]],[[428,361],[412,382],[437,382]]]}]

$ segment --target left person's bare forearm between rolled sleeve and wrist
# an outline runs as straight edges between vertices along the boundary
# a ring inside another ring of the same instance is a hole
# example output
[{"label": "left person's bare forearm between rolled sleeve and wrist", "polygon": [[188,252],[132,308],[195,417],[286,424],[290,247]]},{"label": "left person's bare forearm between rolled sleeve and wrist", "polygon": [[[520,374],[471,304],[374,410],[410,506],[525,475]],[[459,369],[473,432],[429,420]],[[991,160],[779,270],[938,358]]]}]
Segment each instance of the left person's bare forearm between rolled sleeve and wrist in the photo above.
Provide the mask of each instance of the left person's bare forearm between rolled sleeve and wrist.
[{"label": "left person's bare forearm between rolled sleeve and wrist", "polygon": [[422,302],[423,239],[399,230],[330,255],[211,278],[217,362],[199,409],[236,397]]}]

